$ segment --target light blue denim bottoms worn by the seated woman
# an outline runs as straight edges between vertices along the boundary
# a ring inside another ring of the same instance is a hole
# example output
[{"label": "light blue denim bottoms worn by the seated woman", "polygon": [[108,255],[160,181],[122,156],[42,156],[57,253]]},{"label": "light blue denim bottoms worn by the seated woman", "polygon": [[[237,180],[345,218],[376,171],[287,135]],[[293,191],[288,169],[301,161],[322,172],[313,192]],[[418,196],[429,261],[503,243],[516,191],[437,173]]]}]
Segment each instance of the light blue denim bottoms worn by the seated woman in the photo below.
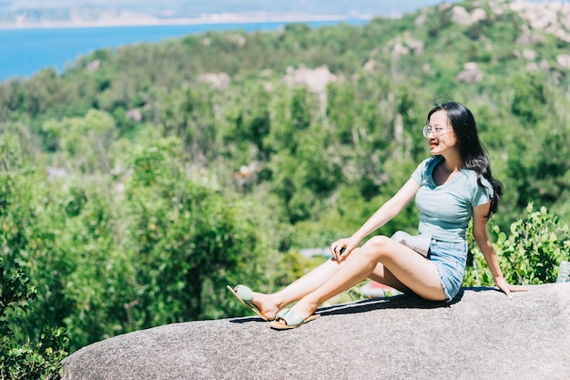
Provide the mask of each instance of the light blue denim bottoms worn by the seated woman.
[{"label": "light blue denim bottoms worn by the seated woman", "polygon": [[452,301],[463,282],[467,262],[467,243],[465,241],[432,240],[428,259],[437,268],[447,302]]}]

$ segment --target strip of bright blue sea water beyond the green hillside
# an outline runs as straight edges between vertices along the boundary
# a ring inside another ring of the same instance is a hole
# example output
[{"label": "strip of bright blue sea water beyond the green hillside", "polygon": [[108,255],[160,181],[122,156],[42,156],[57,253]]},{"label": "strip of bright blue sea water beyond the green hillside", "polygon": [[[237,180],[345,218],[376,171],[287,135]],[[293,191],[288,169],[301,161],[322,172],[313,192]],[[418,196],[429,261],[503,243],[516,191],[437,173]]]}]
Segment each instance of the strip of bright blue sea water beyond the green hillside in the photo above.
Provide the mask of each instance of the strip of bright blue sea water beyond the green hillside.
[{"label": "strip of bright blue sea water beyond the green hillside", "polygon": [[[312,21],[316,28],[341,22],[362,25],[364,20]],[[167,38],[220,30],[246,32],[278,30],[285,22],[244,24],[200,24],[175,26],[108,26],[74,28],[0,29],[0,81],[13,77],[31,77],[37,71],[53,67],[61,73],[78,56],[87,56],[101,48],[156,43]]]}]

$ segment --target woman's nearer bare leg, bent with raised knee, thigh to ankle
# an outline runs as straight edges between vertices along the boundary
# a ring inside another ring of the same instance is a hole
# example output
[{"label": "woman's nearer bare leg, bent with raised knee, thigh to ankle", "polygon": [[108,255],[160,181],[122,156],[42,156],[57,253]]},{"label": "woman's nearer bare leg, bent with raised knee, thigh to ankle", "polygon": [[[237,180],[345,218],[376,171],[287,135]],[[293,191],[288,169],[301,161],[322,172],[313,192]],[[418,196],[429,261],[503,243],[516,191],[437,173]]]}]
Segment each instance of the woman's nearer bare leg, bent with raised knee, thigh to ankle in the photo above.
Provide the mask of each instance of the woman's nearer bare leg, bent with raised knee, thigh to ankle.
[{"label": "woman's nearer bare leg, bent with raised knee, thigh to ankle", "polygon": [[433,262],[390,238],[377,236],[352,251],[341,262],[338,271],[317,289],[302,297],[292,309],[302,316],[308,316],[324,301],[367,277],[379,278],[383,275],[387,278],[385,271],[376,272],[378,262],[382,263],[382,269],[388,269],[402,285],[423,298],[437,301],[445,299],[439,273]]}]

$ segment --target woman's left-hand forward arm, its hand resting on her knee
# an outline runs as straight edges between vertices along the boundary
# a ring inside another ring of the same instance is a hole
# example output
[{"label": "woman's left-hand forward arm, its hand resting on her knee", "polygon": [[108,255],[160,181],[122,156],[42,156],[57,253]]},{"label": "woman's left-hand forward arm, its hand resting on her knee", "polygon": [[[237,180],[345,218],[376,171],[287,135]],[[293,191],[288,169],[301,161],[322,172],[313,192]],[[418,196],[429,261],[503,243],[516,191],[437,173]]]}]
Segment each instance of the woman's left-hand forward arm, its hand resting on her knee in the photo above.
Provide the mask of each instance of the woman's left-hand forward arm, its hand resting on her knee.
[{"label": "woman's left-hand forward arm, its hand resting on her knee", "polygon": [[398,215],[418,190],[420,190],[420,185],[415,180],[410,179],[404,183],[402,188],[390,200],[387,200],[378,211],[374,212],[372,217],[364,222],[361,228],[354,232],[350,238],[341,239],[331,244],[332,257],[338,258],[341,254],[341,248],[345,248],[343,254],[349,254],[362,239]]}]

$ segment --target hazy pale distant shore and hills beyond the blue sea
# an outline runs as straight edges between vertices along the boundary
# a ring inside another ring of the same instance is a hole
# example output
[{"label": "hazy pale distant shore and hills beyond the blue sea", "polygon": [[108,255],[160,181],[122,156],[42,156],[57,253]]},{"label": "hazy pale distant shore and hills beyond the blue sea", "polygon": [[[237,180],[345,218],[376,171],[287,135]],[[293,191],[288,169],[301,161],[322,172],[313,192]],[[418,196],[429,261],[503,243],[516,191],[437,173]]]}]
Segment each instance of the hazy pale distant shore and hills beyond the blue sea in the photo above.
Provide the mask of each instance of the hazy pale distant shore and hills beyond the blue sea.
[{"label": "hazy pale distant shore and hills beyond the blue sea", "polygon": [[[452,1],[455,3],[456,1]],[[282,20],[343,17],[371,18],[374,15],[402,15],[425,5],[437,5],[441,0],[292,0],[263,2],[245,0],[213,0],[209,2],[176,0],[113,2],[110,0],[13,0],[0,2],[0,26],[106,26],[152,25],[164,23],[223,22],[239,20]]]}]

